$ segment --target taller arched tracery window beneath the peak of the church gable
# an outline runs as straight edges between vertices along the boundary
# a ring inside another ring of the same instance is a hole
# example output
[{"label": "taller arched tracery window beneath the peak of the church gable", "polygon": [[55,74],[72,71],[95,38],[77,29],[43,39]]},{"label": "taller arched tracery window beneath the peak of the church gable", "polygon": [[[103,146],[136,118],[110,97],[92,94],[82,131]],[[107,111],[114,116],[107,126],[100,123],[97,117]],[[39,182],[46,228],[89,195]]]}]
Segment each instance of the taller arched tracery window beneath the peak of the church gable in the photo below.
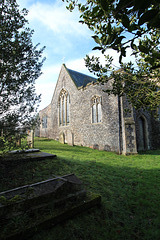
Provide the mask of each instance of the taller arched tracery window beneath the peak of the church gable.
[{"label": "taller arched tracery window beneath the peak of the church gable", "polygon": [[59,125],[65,126],[69,124],[69,94],[62,89],[59,95]]}]

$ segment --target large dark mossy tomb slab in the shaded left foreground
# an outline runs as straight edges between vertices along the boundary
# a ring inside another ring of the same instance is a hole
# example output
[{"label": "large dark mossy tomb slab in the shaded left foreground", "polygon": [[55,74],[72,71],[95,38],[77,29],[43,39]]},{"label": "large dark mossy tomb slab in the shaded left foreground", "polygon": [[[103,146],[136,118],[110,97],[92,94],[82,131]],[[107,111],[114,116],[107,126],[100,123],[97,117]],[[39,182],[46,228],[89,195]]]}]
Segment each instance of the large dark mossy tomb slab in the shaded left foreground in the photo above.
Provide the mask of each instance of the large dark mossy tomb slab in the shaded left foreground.
[{"label": "large dark mossy tomb slab in the shaded left foreground", "polygon": [[74,174],[0,192],[1,239],[30,239],[36,231],[53,227],[100,202],[101,196],[88,193]]}]

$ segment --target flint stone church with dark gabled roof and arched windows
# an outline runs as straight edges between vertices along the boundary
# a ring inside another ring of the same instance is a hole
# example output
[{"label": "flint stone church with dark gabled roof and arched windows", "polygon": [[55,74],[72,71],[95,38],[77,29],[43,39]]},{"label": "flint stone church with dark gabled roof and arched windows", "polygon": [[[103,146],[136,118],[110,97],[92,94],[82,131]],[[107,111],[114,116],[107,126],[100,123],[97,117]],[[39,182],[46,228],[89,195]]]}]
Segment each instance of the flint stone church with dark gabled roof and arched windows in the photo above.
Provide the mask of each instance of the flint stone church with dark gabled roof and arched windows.
[{"label": "flint stone church with dark gabled roof and arched windows", "polygon": [[159,120],[108,95],[108,87],[63,64],[51,103],[39,113],[40,137],[126,155],[158,148]]}]

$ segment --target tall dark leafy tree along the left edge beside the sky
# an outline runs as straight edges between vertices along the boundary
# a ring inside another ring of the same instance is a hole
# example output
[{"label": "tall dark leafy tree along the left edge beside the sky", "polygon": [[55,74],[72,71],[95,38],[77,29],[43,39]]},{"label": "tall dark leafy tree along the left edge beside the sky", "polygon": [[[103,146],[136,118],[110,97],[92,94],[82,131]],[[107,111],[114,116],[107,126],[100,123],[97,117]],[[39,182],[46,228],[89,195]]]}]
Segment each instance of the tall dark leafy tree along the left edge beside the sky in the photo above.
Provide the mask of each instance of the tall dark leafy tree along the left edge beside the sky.
[{"label": "tall dark leafy tree along the left edge beside the sky", "polygon": [[44,47],[33,46],[28,11],[15,0],[0,3],[0,130],[1,135],[25,130],[34,120],[40,96],[35,80],[41,75]]}]

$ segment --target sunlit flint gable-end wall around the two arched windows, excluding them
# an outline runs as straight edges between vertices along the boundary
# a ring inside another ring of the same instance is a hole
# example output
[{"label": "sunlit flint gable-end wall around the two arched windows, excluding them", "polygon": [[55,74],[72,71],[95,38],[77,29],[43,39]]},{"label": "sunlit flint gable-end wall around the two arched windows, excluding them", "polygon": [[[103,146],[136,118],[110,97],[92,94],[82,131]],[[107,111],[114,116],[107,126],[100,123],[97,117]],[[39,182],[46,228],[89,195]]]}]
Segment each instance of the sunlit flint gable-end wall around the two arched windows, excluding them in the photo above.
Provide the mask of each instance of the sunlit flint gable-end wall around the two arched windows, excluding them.
[{"label": "sunlit flint gable-end wall around the two arched windows, excluding them", "polygon": [[[59,94],[65,89],[70,95],[70,122],[68,126],[59,126]],[[41,136],[59,140],[71,145],[82,145],[97,149],[119,152],[119,112],[118,98],[108,96],[102,86],[90,84],[77,89],[66,69],[62,67],[55,92],[48,108],[41,116],[50,114],[50,123]],[[102,122],[92,123],[91,98],[102,97]]]}]

